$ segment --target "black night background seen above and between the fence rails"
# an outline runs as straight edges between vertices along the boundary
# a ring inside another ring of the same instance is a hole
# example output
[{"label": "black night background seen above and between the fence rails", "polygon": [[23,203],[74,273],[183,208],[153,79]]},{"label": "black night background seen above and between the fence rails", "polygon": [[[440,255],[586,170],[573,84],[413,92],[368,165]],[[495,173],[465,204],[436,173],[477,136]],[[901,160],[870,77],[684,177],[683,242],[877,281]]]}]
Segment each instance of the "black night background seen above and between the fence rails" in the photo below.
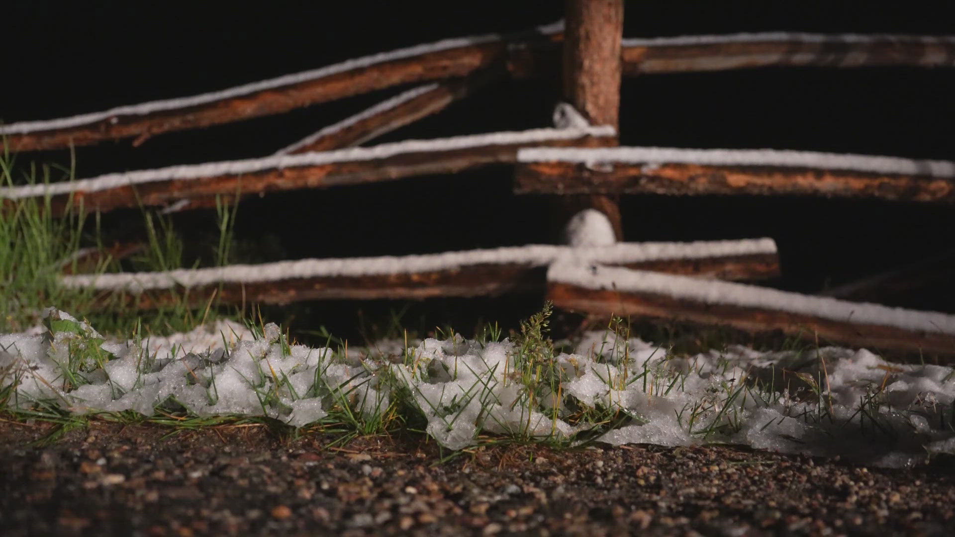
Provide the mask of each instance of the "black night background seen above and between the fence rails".
[{"label": "black night background seen above and between the fence rails", "polygon": [[[553,22],[562,2],[6,2],[2,13],[0,118],[11,122],[189,96],[313,69],[363,54]],[[626,37],[722,32],[955,33],[945,4],[628,2]],[[161,165],[263,156],[396,94],[371,95],[206,130],[79,148],[77,177]],[[763,69],[626,78],[625,145],[778,148],[955,159],[953,69]],[[382,141],[549,126],[557,80],[506,81]],[[66,163],[65,153],[29,160]],[[548,207],[510,194],[511,169],[329,190],[244,202],[238,237],[259,260],[404,254],[542,243]],[[784,277],[777,287],[817,292],[955,247],[951,205],[819,198],[629,197],[627,241],[773,237]],[[136,233],[136,215],[111,215],[108,231]],[[140,218],[141,220],[141,218]],[[177,217],[192,236],[214,213]],[[950,276],[894,305],[955,311]],[[944,284],[944,285],[943,285]],[[939,287],[941,286],[941,287]],[[458,311],[518,318],[541,297],[437,300],[418,305],[437,322]],[[356,307],[312,304],[300,319],[354,324]],[[365,311],[400,304],[361,305]],[[416,313],[415,313],[416,314]],[[331,318],[334,317],[334,318]],[[466,319],[466,317],[460,317]],[[337,321],[336,321],[337,319]],[[467,323],[468,320],[461,322]],[[463,327],[465,330],[467,327]]]}]

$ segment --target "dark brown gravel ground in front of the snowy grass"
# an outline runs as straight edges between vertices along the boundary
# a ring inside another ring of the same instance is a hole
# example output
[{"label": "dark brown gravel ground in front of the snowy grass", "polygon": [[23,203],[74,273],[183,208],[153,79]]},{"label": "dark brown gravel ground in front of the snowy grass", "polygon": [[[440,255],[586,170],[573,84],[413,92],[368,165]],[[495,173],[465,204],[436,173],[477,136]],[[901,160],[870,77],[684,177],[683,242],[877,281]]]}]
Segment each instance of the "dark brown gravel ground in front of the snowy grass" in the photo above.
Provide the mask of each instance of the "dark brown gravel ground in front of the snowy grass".
[{"label": "dark brown gravel ground in front of the snowy grass", "polygon": [[263,427],[0,421],[3,535],[951,535],[955,471],[730,447],[329,447]]}]

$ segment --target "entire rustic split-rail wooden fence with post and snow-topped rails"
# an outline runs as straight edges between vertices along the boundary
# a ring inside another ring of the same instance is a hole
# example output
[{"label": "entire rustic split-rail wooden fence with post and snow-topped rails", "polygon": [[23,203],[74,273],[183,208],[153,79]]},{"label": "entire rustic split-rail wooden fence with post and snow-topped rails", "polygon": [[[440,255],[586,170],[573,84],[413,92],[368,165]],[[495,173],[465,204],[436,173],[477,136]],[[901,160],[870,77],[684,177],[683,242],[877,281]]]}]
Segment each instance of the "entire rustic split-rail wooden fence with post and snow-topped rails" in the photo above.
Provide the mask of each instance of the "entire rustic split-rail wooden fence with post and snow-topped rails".
[{"label": "entire rustic split-rail wooden fence with post and snow-topped rails", "polygon": [[[64,274],[103,304],[155,308],[180,300],[285,304],[329,298],[477,296],[546,290],[560,308],[676,318],[746,331],[955,355],[955,315],[784,292],[733,281],[779,273],[771,239],[624,243],[620,195],[802,195],[955,202],[955,162],[769,150],[619,147],[622,76],[760,67],[955,67],[955,36],[796,32],[623,38],[623,0],[569,0],[565,23],[516,35],[447,39],[194,97],[72,118],[0,126],[11,152],[103,140],[138,145],[163,133],[280,114],[418,84],[259,159],[209,162],[0,188],[0,203],[49,197],[54,212],[214,207],[250,195],[397,181],[494,163],[515,169],[515,192],[554,197],[567,217],[599,210],[610,241],[431,255],[306,259],[215,269]],[[440,112],[506,77],[560,75],[554,125],[520,132],[359,146]],[[586,239],[584,237],[584,239]],[[615,239],[615,240],[614,240]],[[122,255],[132,248],[118,247]],[[102,252],[98,252],[102,253]],[[111,302],[113,301],[113,302]]]}]

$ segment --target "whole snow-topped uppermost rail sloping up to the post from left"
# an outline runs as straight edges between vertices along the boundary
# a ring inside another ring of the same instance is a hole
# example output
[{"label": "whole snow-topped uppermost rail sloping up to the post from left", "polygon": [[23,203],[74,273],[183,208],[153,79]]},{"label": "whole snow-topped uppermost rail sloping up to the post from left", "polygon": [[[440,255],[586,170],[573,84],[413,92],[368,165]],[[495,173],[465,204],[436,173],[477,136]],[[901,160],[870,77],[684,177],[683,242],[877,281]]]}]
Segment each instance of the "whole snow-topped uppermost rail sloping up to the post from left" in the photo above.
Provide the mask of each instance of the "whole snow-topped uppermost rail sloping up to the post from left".
[{"label": "whole snow-topped uppermost rail sloping up to the post from left", "polygon": [[560,29],[559,25],[541,27],[530,38],[492,33],[444,39],[197,96],[118,106],[70,118],[11,123],[0,126],[0,137],[5,137],[3,144],[11,151],[130,137],[141,141],[161,133],[280,114],[401,84],[471,75],[501,64],[508,44],[515,39],[546,40]]}]

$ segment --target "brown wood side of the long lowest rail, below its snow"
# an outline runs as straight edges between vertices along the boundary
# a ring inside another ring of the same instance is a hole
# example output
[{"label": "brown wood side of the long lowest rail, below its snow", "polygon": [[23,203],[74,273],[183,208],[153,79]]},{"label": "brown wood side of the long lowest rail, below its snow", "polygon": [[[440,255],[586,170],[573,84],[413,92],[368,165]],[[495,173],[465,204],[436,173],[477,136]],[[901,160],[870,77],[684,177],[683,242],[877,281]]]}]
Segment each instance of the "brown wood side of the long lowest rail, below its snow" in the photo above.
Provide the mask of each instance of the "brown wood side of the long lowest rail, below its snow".
[{"label": "brown wood side of the long lowest rail, below its snow", "polygon": [[[646,269],[726,280],[761,280],[779,273],[775,254],[736,255],[625,263]],[[222,283],[188,290],[147,290],[139,294],[100,291],[99,307],[154,309],[183,299],[196,306],[210,299],[218,304],[288,304],[305,300],[412,299],[437,296],[493,296],[537,291],[546,287],[546,267],[521,264],[479,264],[456,269],[367,276],[316,276],[254,283]]]}]

